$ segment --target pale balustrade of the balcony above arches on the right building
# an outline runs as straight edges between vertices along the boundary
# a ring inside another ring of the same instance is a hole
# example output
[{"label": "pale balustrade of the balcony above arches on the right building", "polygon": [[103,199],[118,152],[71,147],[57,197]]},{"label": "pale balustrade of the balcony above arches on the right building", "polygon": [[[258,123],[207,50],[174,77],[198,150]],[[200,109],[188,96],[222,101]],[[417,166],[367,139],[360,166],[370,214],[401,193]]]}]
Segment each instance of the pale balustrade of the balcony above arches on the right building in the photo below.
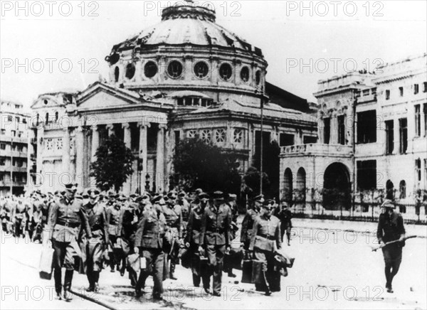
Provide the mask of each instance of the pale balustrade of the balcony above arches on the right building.
[{"label": "pale balustrade of the balcony above arches on the right building", "polygon": [[299,144],[280,148],[280,156],[351,156],[352,154],[352,146],[342,144]]}]

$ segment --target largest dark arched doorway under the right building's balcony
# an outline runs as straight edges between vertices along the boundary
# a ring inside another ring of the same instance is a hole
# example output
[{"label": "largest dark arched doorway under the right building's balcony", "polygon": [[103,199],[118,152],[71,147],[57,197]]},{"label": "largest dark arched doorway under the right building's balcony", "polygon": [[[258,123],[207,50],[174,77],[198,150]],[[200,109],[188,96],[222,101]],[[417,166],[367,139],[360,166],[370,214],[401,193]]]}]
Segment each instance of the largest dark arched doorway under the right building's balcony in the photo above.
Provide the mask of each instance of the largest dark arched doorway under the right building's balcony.
[{"label": "largest dark arched doorway under the right building's balcony", "polygon": [[323,207],[327,210],[349,210],[351,207],[349,170],[344,164],[330,164],[323,178]]}]

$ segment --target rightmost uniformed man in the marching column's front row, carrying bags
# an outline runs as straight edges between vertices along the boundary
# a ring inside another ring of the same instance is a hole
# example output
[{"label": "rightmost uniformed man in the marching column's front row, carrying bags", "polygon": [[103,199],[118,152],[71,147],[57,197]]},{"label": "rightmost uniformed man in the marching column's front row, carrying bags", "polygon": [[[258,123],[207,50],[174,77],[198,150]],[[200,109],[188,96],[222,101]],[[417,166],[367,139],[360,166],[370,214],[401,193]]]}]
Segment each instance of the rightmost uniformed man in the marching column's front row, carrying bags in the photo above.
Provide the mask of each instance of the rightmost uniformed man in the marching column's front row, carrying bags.
[{"label": "rightmost uniformed man in the marching column's front row, carrying bags", "polygon": [[263,264],[261,270],[263,282],[257,284],[265,285],[265,295],[267,296],[271,295],[270,285],[273,284],[270,283],[269,275],[274,272],[274,255],[277,250],[282,248],[280,220],[272,215],[274,203],[272,199],[264,202],[263,214],[255,218],[253,223],[251,245],[249,246],[249,251],[254,252],[255,259]]}]

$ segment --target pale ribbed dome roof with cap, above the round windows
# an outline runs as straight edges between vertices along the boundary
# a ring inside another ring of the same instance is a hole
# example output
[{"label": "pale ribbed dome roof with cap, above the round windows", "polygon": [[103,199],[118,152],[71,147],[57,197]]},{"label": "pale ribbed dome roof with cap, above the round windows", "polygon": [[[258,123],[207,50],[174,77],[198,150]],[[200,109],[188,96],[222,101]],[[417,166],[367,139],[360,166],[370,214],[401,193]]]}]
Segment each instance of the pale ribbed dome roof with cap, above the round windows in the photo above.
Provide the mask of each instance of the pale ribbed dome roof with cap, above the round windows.
[{"label": "pale ribbed dome roof with cap, above the round windows", "polygon": [[262,57],[259,48],[251,46],[234,33],[215,23],[215,11],[202,6],[169,6],[162,11],[162,22],[144,29],[139,35],[119,43],[112,54],[122,50],[152,46],[216,46],[253,52]]}]

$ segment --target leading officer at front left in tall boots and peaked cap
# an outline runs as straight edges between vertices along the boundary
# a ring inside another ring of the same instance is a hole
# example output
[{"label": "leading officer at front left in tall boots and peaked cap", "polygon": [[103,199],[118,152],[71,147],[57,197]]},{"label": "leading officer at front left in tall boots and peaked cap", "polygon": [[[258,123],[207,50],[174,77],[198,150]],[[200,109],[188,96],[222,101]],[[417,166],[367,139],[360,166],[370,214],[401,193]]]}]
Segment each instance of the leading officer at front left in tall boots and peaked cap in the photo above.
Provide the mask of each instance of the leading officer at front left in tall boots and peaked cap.
[{"label": "leading officer at front left in tall boots and peaked cap", "polygon": [[80,256],[77,238],[80,232],[80,225],[86,232],[88,239],[92,237],[88,216],[83,208],[83,203],[75,199],[77,184],[66,184],[66,191],[63,198],[58,203],[54,203],[49,212],[48,230],[43,237],[43,243],[47,242],[48,235],[51,235],[53,254],[53,267],[55,278],[56,296],[61,298],[61,268],[65,267],[64,294],[65,301],[70,301],[71,282],[73,281],[74,257]]}]

